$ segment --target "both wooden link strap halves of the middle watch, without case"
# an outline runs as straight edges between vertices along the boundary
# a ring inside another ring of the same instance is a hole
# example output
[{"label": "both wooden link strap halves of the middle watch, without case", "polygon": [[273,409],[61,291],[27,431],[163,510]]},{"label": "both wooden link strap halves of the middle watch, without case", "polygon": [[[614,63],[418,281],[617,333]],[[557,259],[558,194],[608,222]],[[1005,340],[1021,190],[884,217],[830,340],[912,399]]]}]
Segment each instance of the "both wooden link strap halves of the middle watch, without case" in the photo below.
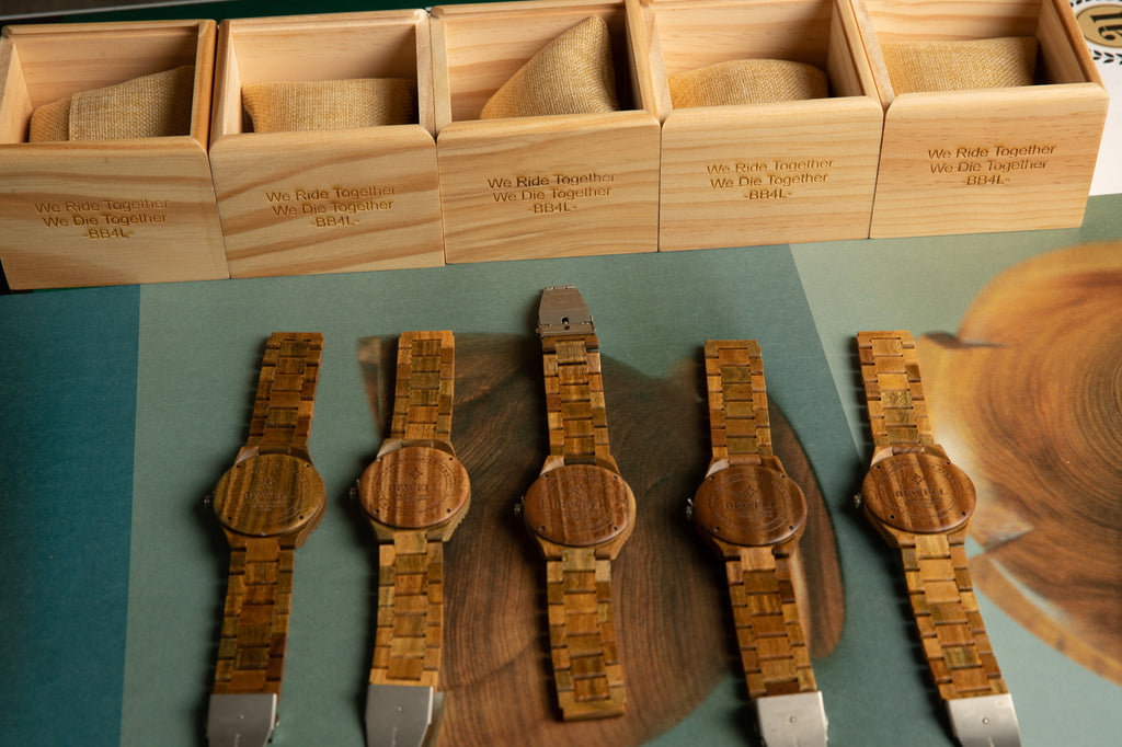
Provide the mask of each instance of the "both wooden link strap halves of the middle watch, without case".
[{"label": "both wooden link strap halves of the middle watch, without case", "polygon": [[[564,464],[613,463],[594,333],[542,338],[550,457]],[[623,665],[611,615],[611,564],[596,547],[564,547],[546,561],[550,649],[565,720],[620,716]]]}]

